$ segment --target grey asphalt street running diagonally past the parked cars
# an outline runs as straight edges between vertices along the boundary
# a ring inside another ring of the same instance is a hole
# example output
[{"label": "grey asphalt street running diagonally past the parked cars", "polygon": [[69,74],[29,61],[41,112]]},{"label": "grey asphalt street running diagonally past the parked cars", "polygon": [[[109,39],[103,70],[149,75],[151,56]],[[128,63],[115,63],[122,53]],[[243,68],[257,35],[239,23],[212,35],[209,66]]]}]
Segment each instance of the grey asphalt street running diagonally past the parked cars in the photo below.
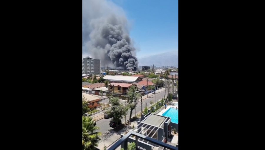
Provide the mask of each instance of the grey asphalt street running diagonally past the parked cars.
[{"label": "grey asphalt street running diagonally past the parked cars", "polygon": [[[167,93],[166,92],[166,95],[165,97],[167,96]],[[147,107],[150,107],[151,104],[150,104],[150,101],[153,101],[155,103],[155,97],[156,97],[156,102],[159,100],[161,100],[162,98],[164,98],[164,94],[165,94],[165,91],[161,91],[160,93],[157,93],[156,96],[153,95],[153,96],[150,96],[146,99],[143,100],[143,110],[145,109],[145,102],[147,103]],[[122,101],[123,104],[125,104],[125,101]],[[103,102],[103,101],[102,101]],[[108,103],[108,99],[104,100],[104,103]],[[138,102],[138,104],[136,105],[136,114],[140,113],[141,112],[141,101]],[[130,111],[128,111],[127,115],[126,115],[126,121],[128,120],[130,116]],[[132,111],[132,117],[135,116],[135,109]],[[109,132],[109,130],[113,129],[112,127],[110,127],[109,123],[110,123],[110,120],[111,118],[109,119],[101,119],[99,121],[97,121],[97,126],[100,127],[99,129],[99,132],[103,134]],[[122,123],[125,122],[125,117],[122,120]]]}]

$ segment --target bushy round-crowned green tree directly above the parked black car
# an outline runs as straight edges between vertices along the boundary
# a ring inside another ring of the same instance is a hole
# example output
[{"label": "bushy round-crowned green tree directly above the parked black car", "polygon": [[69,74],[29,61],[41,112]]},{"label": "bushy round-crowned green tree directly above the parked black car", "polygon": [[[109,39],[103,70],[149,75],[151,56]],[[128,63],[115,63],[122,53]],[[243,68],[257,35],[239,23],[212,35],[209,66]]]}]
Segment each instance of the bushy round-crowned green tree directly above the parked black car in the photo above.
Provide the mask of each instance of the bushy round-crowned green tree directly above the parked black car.
[{"label": "bushy round-crowned green tree directly above the parked black car", "polygon": [[120,99],[118,97],[110,96],[109,101],[111,106],[106,112],[115,122],[118,122],[126,113],[125,106],[120,103]]}]

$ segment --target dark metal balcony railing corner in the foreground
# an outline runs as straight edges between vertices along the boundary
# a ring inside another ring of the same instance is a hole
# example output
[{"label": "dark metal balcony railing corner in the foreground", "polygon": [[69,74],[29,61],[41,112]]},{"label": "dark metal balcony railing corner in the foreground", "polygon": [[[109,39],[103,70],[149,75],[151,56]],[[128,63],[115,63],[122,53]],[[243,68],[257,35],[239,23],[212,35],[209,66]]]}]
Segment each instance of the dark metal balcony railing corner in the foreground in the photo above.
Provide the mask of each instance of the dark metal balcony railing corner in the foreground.
[{"label": "dark metal balcony railing corner in the foreground", "polygon": [[[145,139],[145,141],[149,141],[153,144],[156,144],[160,147],[163,147],[163,148],[166,148],[166,149],[170,149],[170,150],[178,150],[178,147],[175,147],[175,146],[172,146],[172,145],[169,145],[169,144],[166,144],[166,143],[163,143],[163,142],[160,142],[156,139],[153,139],[153,138],[150,138],[148,136],[144,136],[142,134],[139,134],[137,132],[133,132],[133,131],[130,131],[128,132],[127,134],[125,134],[119,141],[117,141],[114,145],[112,145],[108,150],[115,150],[117,149],[121,144],[124,145],[124,150],[127,150],[127,147],[128,147],[128,138],[130,136],[135,136],[135,145],[136,145],[136,148],[138,149],[138,139]],[[136,150],[137,150],[136,149]]]}]

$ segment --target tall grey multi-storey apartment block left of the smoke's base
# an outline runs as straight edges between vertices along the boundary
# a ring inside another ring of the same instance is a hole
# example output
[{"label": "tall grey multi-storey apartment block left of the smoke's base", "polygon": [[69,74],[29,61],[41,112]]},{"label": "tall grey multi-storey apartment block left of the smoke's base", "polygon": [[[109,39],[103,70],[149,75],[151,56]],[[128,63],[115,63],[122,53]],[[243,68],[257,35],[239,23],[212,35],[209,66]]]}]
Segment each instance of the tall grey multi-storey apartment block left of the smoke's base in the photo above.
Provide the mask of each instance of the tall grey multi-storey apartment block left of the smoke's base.
[{"label": "tall grey multi-storey apartment block left of the smoke's base", "polygon": [[91,75],[100,74],[100,59],[92,59],[90,57],[83,58],[82,73]]}]

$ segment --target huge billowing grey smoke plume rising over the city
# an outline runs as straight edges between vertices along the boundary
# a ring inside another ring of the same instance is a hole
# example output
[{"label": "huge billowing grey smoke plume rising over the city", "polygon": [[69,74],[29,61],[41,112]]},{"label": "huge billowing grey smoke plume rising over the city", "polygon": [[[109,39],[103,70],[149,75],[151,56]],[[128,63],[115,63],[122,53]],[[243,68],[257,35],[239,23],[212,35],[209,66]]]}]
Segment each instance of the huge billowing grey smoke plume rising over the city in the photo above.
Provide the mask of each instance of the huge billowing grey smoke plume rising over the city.
[{"label": "huge billowing grey smoke plume rising over the city", "polygon": [[136,70],[136,50],[122,8],[107,0],[83,0],[83,57],[100,59],[101,66]]}]

